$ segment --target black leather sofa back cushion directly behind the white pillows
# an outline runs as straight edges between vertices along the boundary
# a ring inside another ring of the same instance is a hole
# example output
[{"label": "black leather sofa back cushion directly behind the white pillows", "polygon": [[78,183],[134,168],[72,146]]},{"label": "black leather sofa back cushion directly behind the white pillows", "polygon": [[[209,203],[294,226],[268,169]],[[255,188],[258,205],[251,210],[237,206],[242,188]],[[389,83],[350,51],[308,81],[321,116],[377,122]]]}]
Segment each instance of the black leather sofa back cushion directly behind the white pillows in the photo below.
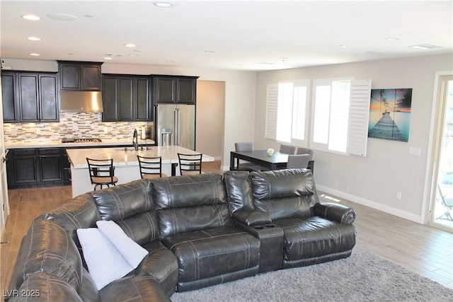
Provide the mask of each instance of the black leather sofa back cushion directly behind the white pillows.
[{"label": "black leather sofa back cushion directly behind the white pillows", "polygon": [[91,195],[101,218],[115,221],[136,243],[144,245],[159,238],[149,180],[135,180]]}]

